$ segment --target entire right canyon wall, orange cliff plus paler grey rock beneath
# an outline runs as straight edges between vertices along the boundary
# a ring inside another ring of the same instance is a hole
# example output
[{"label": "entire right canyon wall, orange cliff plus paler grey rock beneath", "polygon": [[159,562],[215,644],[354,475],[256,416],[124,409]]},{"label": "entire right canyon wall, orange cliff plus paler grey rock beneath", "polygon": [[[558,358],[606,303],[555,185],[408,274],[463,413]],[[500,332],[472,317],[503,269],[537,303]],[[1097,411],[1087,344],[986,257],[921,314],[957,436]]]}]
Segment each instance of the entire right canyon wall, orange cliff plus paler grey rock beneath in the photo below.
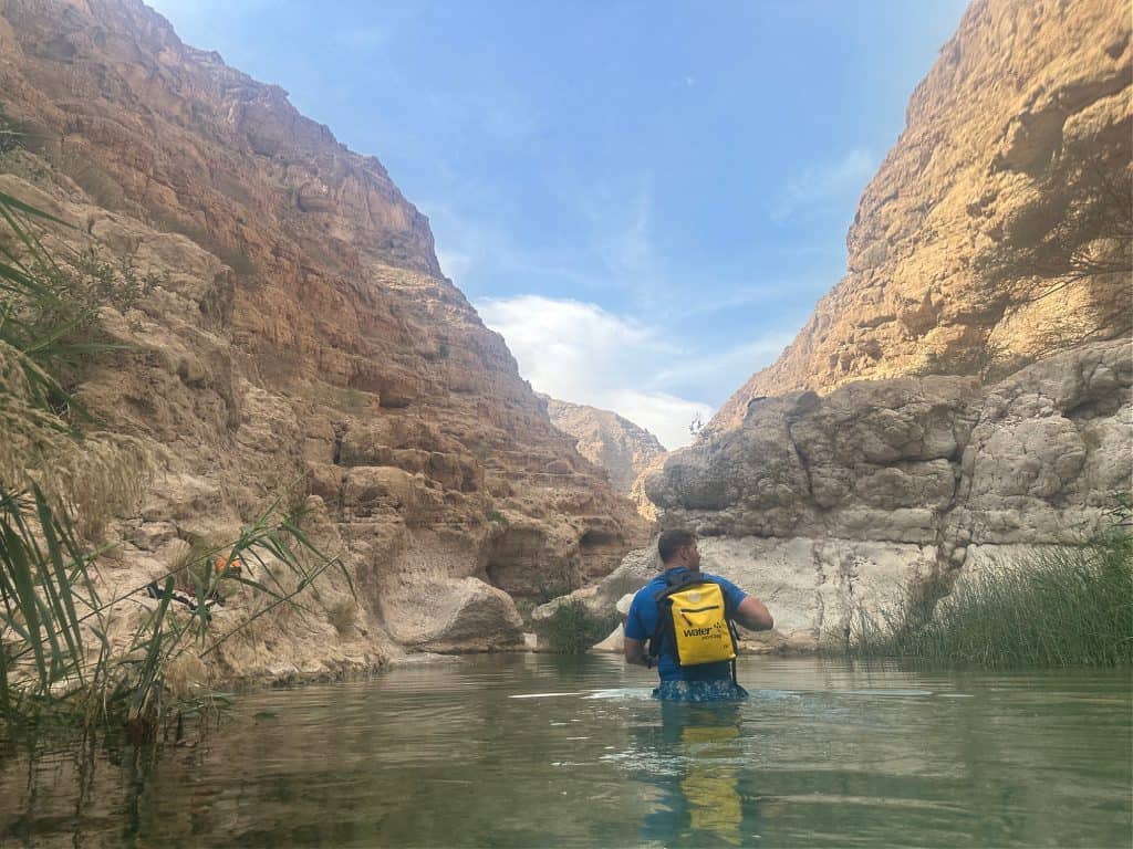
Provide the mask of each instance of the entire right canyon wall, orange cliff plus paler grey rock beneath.
[{"label": "entire right canyon wall, orange cliff plus paler grey rock beneath", "polygon": [[[978,0],[866,189],[849,271],[696,445],[639,481],[765,649],[1038,546],[1133,479],[1124,2]],[[637,555],[631,555],[636,557]]]}]

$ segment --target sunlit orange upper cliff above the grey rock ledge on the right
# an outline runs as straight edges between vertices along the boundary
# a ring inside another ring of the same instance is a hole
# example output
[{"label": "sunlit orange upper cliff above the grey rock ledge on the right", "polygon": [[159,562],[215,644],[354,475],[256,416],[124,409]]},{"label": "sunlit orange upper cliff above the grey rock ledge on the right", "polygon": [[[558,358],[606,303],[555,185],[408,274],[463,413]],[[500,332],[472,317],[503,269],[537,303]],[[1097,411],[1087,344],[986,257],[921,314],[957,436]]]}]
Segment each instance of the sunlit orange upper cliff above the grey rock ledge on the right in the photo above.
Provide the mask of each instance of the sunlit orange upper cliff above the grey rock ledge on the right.
[{"label": "sunlit orange upper cliff above the grey rock ledge on the right", "polygon": [[1123,0],[976,0],[867,187],[845,277],[719,410],[862,378],[996,380],[1130,333],[1133,48]]}]

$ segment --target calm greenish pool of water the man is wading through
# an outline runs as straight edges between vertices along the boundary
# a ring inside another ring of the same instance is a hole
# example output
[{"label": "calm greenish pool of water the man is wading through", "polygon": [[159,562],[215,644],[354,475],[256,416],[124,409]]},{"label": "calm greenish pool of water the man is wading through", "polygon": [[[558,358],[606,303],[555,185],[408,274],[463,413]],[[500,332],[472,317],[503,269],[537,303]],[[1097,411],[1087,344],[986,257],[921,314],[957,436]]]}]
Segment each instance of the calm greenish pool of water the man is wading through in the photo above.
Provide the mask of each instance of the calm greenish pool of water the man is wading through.
[{"label": "calm greenish pool of water the man is wading through", "polygon": [[240,697],[191,748],[0,751],[0,844],[1128,847],[1127,672],[746,658],[662,705],[616,658]]}]

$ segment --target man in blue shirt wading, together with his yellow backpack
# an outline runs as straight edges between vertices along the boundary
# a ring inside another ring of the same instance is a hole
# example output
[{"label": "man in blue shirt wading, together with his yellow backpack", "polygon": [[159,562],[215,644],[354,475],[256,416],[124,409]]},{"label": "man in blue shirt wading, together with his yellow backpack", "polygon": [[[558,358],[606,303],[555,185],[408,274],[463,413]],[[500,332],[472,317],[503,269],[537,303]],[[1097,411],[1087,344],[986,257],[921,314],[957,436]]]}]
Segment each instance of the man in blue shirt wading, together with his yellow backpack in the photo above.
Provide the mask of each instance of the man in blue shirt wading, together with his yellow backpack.
[{"label": "man in blue shirt wading, together with his yellow backpack", "polygon": [[665,531],[657,551],[663,572],[638,590],[625,619],[625,660],[649,669],[656,663],[661,686],[655,698],[747,697],[735,680],[732,623],[768,631],[772,615],[731,581],[700,572],[697,538],[688,531]]}]

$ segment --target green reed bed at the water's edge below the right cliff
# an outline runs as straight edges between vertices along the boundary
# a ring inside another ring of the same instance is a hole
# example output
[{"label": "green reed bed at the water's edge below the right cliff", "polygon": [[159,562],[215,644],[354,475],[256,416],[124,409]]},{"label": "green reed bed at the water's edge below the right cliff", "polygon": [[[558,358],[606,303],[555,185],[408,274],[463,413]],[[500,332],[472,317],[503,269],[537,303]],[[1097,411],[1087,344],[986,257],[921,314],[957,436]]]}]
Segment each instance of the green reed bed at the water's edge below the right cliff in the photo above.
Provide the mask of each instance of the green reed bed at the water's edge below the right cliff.
[{"label": "green reed bed at the water's edge below the right cliff", "polygon": [[991,668],[1133,663],[1131,501],[1081,546],[1043,547],[962,576],[935,608],[861,614],[853,653]]}]

